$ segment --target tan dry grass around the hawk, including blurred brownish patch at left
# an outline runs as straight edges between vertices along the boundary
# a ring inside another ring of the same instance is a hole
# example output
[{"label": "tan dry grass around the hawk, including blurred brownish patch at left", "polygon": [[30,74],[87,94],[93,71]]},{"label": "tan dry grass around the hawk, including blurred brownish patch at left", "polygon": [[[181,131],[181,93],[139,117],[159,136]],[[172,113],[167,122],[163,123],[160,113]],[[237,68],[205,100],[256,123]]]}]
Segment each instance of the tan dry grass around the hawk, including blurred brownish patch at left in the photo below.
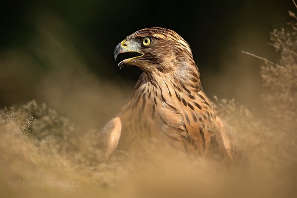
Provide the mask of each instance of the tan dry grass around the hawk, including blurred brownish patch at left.
[{"label": "tan dry grass around the hawk, including blurred brownish patch at left", "polygon": [[[296,197],[295,19],[290,33],[271,33],[281,58],[266,60],[261,68],[269,89],[263,94],[265,113],[252,114],[234,100],[216,102],[247,154],[248,170],[226,170],[215,161],[153,148],[143,155],[117,151],[101,162],[99,126],[129,89],[101,82],[85,69],[75,73],[68,68],[43,78],[38,93],[75,124],[34,100],[0,110],[0,197]],[[83,65],[76,57],[70,59]]]}]

